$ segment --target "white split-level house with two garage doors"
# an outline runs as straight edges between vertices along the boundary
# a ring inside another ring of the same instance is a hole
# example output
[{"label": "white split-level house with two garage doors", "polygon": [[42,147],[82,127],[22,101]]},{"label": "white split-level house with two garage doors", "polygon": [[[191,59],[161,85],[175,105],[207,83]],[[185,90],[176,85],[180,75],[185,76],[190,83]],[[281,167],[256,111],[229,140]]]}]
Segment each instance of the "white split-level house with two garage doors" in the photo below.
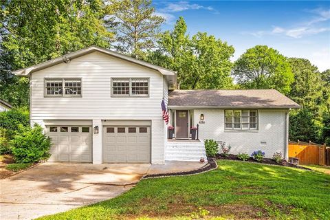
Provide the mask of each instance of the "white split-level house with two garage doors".
[{"label": "white split-level house with two garage doors", "polygon": [[[31,124],[52,137],[50,159],[61,162],[199,161],[206,138],[233,153],[287,157],[288,112],[299,107],[276,90],[176,90],[174,71],[96,46],[14,74],[30,78]],[[199,140],[191,140],[197,124]]]}]

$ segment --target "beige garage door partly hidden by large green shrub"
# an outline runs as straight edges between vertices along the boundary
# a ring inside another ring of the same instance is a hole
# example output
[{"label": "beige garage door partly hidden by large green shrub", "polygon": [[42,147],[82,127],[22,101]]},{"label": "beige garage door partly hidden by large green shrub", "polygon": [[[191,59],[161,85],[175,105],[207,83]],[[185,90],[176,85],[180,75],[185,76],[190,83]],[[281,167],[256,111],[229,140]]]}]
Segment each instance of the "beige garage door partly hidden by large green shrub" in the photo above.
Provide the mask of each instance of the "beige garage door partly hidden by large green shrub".
[{"label": "beige garage door partly hidden by large green shrub", "polygon": [[51,161],[92,162],[90,126],[47,126],[52,139]]}]

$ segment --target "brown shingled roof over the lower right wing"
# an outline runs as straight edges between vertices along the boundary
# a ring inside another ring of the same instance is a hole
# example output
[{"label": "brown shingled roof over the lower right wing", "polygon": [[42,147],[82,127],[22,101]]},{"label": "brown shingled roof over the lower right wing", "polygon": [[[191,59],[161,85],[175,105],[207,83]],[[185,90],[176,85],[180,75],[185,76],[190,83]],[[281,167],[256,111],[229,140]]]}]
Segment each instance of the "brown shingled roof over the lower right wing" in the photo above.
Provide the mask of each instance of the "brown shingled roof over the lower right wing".
[{"label": "brown shingled roof over the lower right wing", "polygon": [[300,105],[275,89],[174,90],[168,108],[298,109]]}]

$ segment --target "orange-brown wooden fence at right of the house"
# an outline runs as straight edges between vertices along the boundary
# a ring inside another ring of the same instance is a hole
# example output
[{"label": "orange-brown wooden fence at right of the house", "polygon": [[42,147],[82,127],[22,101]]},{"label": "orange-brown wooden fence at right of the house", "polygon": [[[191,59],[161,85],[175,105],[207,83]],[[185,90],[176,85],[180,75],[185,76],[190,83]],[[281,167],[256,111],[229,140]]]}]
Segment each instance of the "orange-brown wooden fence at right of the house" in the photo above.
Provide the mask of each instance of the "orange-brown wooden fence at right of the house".
[{"label": "orange-brown wooden fence at right of the house", "polygon": [[289,141],[289,157],[298,158],[301,165],[330,165],[330,148],[325,144]]}]

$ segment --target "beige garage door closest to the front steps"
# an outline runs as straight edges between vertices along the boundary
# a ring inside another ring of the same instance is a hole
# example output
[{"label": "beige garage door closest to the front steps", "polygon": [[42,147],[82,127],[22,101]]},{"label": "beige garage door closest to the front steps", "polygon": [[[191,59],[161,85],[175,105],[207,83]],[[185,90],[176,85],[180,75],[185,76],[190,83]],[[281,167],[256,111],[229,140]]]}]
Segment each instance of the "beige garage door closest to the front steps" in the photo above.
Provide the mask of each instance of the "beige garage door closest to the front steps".
[{"label": "beige garage door closest to the front steps", "polygon": [[150,163],[150,126],[104,126],[105,163]]}]

